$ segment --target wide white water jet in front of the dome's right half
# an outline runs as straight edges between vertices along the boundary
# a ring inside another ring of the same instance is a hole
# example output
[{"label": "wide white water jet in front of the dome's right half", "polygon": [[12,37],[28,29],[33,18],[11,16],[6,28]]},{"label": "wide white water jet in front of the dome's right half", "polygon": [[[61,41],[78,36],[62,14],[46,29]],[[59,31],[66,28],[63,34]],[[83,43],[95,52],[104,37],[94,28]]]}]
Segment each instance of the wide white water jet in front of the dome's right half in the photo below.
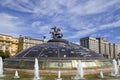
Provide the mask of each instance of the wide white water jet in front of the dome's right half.
[{"label": "wide white water jet in front of the dome's right half", "polygon": [[73,80],[84,80],[84,71],[83,71],[83,66],[82,62],[79,60],[77,64],[77,74],[75,77],[73,77]]}]

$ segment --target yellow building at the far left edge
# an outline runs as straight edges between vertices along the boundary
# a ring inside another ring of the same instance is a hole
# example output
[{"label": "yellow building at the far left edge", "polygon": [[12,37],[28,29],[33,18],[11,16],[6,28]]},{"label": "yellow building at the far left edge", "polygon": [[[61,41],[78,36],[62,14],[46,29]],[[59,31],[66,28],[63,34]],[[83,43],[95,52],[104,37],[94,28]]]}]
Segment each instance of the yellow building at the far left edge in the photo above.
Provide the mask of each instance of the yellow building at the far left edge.
[{"label": "yellow building at the far left edge", "polygon": [[11,56],[15,55],[18,50],[18,39],[9,35],[0,34],[0,50],[3,52],[9,51]]}]

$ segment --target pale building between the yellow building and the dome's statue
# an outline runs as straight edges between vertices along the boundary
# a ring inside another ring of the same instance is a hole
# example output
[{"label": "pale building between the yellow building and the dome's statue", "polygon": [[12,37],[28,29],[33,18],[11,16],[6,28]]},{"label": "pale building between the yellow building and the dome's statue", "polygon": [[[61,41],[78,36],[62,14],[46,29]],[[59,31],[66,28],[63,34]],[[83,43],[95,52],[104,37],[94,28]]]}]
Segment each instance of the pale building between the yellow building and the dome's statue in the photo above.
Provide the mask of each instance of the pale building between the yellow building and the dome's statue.
[{"label": "pale building between the yellow building and the dome's statue", "polygon": [[18,52],[20,52],[21,50],[30,48],[32,46],[42,44],[42,43],[46,43],[46,40],[33,39],[31,37],[28,37],[28,36],[24,36],[24,37],[20,36],[19,37]]}]

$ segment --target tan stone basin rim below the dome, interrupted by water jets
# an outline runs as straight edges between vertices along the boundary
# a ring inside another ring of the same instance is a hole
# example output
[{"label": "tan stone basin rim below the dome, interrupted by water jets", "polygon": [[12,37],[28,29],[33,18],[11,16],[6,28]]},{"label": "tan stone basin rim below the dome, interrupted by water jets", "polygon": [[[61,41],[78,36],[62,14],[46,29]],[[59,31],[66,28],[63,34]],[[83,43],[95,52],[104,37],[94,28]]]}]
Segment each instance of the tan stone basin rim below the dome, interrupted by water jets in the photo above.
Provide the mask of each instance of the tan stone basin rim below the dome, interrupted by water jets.
[{"label": "tan stone basin rim below the dome, interrupted by water jets", "polygon": [[[14,72],[16,69],[15,68],[4,68],[5,71],[11,71]],[[34,74],[34,70],[32,69],[17,69],[19,72],[23,73],[29,73],[29,74]],[[89,68],[89,69],[84,69],[84,74],[98,74],[101,70],[103,70],[104,73],[110,72],[112,70],[111,67],[103,67],[103,68]],[[76,69],[61,69],[62,75],[76,75]],[[43,74],[57,74],[58,70],[57,69],[40,69],[39,73]]]}]

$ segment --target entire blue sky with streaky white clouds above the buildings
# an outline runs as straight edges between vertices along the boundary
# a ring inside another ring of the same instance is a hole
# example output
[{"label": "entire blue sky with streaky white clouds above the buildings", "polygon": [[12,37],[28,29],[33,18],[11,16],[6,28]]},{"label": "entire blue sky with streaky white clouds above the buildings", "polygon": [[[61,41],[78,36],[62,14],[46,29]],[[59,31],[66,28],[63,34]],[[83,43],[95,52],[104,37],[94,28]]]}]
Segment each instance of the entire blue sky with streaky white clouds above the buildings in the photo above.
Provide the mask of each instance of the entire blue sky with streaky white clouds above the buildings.
[{"label": "entire blue sky with streaky white clouds above the buildings", "polygon": [[120,0],[0,0],[0,33],[50,39],[58,26],[65,39],[105,37],[120,44]]}]

